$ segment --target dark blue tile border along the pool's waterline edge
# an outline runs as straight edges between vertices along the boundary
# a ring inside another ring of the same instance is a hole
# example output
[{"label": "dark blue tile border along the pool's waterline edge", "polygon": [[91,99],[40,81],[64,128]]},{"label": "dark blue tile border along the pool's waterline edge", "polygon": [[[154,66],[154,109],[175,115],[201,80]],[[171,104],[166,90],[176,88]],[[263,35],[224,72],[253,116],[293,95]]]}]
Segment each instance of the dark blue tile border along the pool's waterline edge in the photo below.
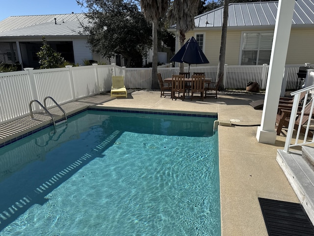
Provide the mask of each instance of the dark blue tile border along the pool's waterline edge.
[{"label": "dark blue tile border along the pool's waterline edge", "polygon": [[[88,107],[85,109],[82,109],[78,112],[75,112],[73,114],[67,115],[67,117],[73,117],[75,115],[78,115],[79,113],[85,112],[85,111],[105,111],[105,112],[120,112],[120,113],[134,113],[134,114],[150,114],[150,115],[165,115],[165,116],[179,116],[179,117],[201,117],[201,118],[218,118],[218,115],[207,115],[207,114],[188,114],[188,113],[178,113],[178,112],[161,112],[161,111],[139,111],[139,110],[126,110],[126,109],[108,109],[108,108],[99,108],[99,107]],[[10,140],[7,140],[3,143],[0,143],[0,148],[3,148],[9,144],[12,144],[16,141],[19,141],[20,139],[23,139],[29,135],[32,135],[38,131],[41,131],[49,126],[52,126],[51,123],[45,124],[43,126],[40,126],[36,129],[30,130],[22,135],[19,135],[17,137],[14,137]]]}]

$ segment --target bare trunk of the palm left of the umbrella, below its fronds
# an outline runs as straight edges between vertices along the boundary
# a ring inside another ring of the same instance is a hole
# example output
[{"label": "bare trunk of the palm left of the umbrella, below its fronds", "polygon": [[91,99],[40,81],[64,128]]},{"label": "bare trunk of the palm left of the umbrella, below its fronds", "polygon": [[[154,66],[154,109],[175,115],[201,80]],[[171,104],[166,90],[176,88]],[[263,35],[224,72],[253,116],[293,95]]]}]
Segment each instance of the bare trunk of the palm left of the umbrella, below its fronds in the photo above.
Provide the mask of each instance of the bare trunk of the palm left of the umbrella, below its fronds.
[{"label": "bare trunk of the palm left of the umbrella, below its fronds", "polygon": [[158,45],[157,45],[158,19],[153,19],[153,63],[152,63],[152,89],[158,89],[157,65],[158,65]]}]

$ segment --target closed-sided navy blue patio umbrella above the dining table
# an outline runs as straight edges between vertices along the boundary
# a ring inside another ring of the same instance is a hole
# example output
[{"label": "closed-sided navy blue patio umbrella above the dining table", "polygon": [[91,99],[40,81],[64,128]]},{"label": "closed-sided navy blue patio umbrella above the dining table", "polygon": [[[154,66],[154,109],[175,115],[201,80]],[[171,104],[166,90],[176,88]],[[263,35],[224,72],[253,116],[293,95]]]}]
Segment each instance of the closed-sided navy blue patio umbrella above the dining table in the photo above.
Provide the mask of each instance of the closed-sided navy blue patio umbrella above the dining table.
[{"label": "closed-sided navy blue patio umbrella above the dining table", "polygon": [[200,46],[194,37],[190,37],[181,49],[170,59],[181,63],[188,63],[188,72],[191,64],[206,64],[209,60],[206,58]]}]

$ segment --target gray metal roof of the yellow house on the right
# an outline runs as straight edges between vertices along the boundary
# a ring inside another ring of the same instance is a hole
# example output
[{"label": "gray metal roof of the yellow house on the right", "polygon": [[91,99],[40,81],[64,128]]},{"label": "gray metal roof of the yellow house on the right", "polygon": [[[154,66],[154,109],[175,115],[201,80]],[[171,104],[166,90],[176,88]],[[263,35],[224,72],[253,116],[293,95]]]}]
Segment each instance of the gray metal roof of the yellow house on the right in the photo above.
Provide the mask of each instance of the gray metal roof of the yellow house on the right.
[{"label": "gray metal roof of the yellow house on the right", "polygon": [[[228,27],[275,26],[278,1],[230,3]],[[222,27],[223,7],[198,15],[195,27]],[[296,0],[292,25],[314,23],[314,0]]]}]

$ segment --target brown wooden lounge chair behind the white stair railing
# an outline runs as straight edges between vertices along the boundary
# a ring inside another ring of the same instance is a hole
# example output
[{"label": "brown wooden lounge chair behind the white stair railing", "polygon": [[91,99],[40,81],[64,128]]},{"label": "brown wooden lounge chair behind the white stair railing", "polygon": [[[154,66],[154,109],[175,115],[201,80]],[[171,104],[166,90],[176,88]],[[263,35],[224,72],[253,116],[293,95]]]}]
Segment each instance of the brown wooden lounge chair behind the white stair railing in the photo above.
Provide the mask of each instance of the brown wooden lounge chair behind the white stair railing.
[{"label": "brown wooden lounge chair behind the white stair railing", "polygon": [[[311,106],[312,106],[312,101],[306,104],[302,120],[301,120],[302,107],[299,107],[299,111],[297,112],[298,116],[296,117],[295,123],[294,123],[294,129],[298,129],[299,124],[301,123],[301,132],[305,133],[306,128],[304,128],[303,125],[306,124],[308,120],[310,119]],[[277,135],[280,135],[282,128],[284,127],[288,128],[291,109],[292,109],[292,106],[289,106],[289,105],[279,106],[278,110],[280,110],[280,112],[278,112],[277,117],[276,117]],[[313,137],[313,133],[309,132],[308,136]]]}]

